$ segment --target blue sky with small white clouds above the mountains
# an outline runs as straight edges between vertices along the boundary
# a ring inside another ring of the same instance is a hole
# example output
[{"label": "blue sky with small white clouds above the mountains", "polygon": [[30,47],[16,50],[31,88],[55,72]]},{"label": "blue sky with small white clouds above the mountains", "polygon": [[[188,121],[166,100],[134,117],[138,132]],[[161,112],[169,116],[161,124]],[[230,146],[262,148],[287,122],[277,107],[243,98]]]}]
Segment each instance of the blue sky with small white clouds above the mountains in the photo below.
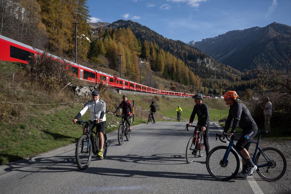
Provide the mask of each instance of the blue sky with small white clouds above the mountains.
[{"label": "blue sky with small white clouds above the mountains", "polygon": [[88,0],[87,5],[92,22],[132,20],[186,43],[272,22],[291,25],[291,0]]}]

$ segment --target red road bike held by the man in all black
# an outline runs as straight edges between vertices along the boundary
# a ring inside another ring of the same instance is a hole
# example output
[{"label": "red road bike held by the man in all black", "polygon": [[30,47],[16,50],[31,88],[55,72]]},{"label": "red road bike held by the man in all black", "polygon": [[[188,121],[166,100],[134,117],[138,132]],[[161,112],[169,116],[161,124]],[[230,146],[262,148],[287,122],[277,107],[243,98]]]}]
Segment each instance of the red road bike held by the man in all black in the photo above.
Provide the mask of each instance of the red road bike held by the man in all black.
[{"label": "red road bike held by the man in all black", "polygon": [[[186,129],[189,131],[188,125],[186,125]],[[201,129],[202,127],[195,126],[193,136],[188,141],[188,144],[186,147],[186,160],[188,163],[191,163],[194,161],[194,159],[196,158],[198,154],[198,150],[199,150],[200,157],[204,155],[204,152],[205,152],[205,144],[203,142],[204,132],[201,132]],[[200,133],[201,133],[201,137],[199,136]]]}]

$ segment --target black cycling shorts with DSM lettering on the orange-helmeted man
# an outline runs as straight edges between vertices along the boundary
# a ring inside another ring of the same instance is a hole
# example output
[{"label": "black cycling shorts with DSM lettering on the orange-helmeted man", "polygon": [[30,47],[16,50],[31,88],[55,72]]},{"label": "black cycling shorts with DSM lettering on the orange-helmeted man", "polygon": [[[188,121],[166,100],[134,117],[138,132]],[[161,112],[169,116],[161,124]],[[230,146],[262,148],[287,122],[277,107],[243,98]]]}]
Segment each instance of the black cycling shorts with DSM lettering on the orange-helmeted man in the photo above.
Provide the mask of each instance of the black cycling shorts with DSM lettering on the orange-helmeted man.
[{"label": "black cycling shorts with DSM lettering on the orange-helmeted man", "polygon": [[257,125],[249,126],[243,129],[242,135],[239,140],[236,142],[236,148],[241,151],[244,148],[248,151],[249,146],[251,145],[250,141],[256,136],[258,132]]}]

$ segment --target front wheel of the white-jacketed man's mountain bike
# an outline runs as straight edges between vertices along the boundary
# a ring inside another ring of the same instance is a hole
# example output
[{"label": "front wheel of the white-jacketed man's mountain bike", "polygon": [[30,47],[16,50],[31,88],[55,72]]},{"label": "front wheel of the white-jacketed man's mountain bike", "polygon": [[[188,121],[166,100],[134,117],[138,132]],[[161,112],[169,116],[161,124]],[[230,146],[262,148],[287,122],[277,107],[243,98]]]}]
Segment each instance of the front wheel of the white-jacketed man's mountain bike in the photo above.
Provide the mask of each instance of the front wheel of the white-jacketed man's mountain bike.
[{"label": "front wheel of the white-jacketed man's mountain bike", "polygon": [[92,158],[92,144],[88,135],[82,135],[76,145],[76,163],[79,169],[88,168]]}]

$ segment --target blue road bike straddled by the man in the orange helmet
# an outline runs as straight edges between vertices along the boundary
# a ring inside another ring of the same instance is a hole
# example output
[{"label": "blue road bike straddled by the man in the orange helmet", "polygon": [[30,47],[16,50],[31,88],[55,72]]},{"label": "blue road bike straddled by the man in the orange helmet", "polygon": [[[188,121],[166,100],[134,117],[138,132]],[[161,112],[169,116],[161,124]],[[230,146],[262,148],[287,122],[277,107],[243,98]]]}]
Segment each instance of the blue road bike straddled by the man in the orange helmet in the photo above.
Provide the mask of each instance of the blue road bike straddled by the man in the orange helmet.
[{"label": "blue road bike straddled by the man in the orange helmet", "polygon": [[[259,148],[259,140],[262,134],[268,134],[266,131],[258,131],[258,141],[250,141],[256,144],[254,154],[250,154],[253,163],[258,167],[257,173],[262,179],[266,181],[279,180],[286,171],[286,159],[285,156],[276,148],[266,147],[263,149]],[[216,140],[221,135],[216,133]],[[239,172],[239,157],[237,153],[242,157],[244,161],[246,159],[242,156],[239,150],[234,145],[235,136],[232,135],[230,139],[226,136],[229,141],[228,146],[217,146],[213,148],[206,159],[206,167],[209,174],[220,181],[227,181],[236,176]],[[226,141],[222,141],[226,143]],[[232,149],[233,148],[233,149]],[[259,150],[258,154],[257,151]],[[236,153],[236,152],[237,153]]]}]

